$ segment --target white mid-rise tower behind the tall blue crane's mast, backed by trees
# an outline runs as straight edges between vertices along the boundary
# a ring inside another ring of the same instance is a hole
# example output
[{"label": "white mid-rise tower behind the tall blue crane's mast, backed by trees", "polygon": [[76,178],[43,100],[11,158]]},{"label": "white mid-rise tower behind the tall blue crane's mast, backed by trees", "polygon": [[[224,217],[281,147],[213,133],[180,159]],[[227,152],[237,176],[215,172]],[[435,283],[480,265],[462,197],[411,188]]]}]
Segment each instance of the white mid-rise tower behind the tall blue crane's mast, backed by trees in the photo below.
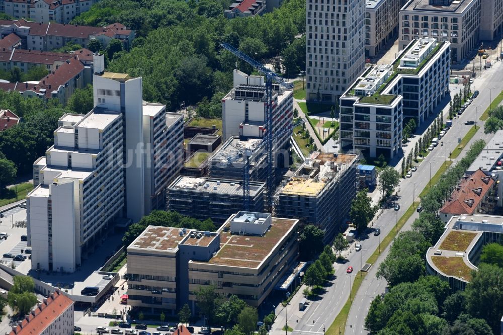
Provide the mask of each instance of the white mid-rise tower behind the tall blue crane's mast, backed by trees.
[{"label": "white mid-rise tower behind the tall blue crane's mast, backed by trees", "polygon": [[[293,121],[293,91],[273,83],[272,135],[279,149],[289,146]],[[222,99],[223,141],[232,136],[262,138],[266,131],[265,81],[261,75],[234,70],[234,88]],[[282,132],[277,137],[275,134]]]}]

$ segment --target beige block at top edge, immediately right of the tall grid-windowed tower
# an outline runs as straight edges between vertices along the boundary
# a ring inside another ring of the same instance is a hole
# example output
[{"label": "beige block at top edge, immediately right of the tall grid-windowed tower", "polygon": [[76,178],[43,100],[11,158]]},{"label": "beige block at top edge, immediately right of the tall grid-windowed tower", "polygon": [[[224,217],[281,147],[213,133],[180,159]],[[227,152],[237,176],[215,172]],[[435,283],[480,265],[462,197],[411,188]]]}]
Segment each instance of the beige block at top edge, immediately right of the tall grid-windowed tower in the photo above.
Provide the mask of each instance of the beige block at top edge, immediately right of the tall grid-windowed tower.
[{"label": "beige block at top edge, immediately right of the tall grid-windowed tower", "polygon": [[366,0],[365,57],[374,57],[398,32],[400,2],[396,0]]}]

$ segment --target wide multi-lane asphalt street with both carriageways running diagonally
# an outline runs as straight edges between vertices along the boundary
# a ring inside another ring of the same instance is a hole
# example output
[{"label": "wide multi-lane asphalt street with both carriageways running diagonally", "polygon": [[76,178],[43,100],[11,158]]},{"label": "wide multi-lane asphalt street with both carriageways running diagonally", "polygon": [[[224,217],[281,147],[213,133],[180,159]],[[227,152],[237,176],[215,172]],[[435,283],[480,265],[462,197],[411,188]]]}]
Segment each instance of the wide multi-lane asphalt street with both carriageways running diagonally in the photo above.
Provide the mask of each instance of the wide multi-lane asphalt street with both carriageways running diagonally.
[{"label": "wide multi-lane asphalt street with both carriageways running diagonally", "polygon": [[[482,75],[475,79],[475,82],[472,85],[472,91],[480,91],[478,98],[474,99],[473,103],[460,117],[453,120],[452,128],[442,139],[444,143],[443,146],[438,145],[432,152],[430,152],[426,159],[418,164],[417,171],[413,173],[411,178],[403,179],[400,182],[398,192],[399,199],[397,201],[400,204],[400,210],[394,211],[393,208],[384,210],[379,219],[374,223],[374,228],[381,228],[381,236],[386,236],[391,229],[395,229],[397,218],[400,218],[406,209],[412,205],[414,198],[418,198],[418,195],[429,183],[430,176],[435,175],[441,165],[445,163],[446,156],[448,157],[450,152],[454,151],[454,149],[458,146],[458,138],[463,137],[464,134],[466,134],[466,132],[472,127],[472,125],[465,125],[464,122],[468,120],[475,121],[475,114],[477,113],[477,118],[480,117],[482,112],[489,106],[489,96],[491,95],[491,91],[489,89],[493,89],[492,99],[494,99],[494,97],[503,90],[503,81],[500,79],[502,75],[503,66],[501,66],[501,62],[496,62],[492,68],[482,71]],[[460,87],[461,86],[458,85],[455,90],[454,86],[452,86],[451,95],[454,96],[454,94],[458,93]],[[449,106],[447,105],[444,112],[448,112],[448,110]],[[444,116],[444,120],[446,119],[446,116]],[[477,120],[477,122],[478,125],[482,124],[479,120]],[[491,138],[491,135],[484,135],[482,128],[473,137],[471,142],[479,138],[487,141]],[[466,150],[463,150],[463,153],[458,156],[458,159],[464,155],[464,152],[466,152]],[[404,229],[410,229],[410,224],[416,215],[417,213],[414,213],[411,219],[406,223]],[[322,295],[322,298],[318,301],[312,302],[302,318],[299,319],[295,315],[289,315],[288,324],[294,325],[293,333],[321,334],[323,333],[323,327],[328,328],[334,318],[339,314],[342,307],[350,297],[350,276],[353,276],[354,279],[354,276],[356,275],[355,273],[360,269],[360,259],[363,259],[363,263],[365,263],[365,260],[368,259],[374,253],[374,250],[378,248],[378,236],[374,236],[370,233],[366,236],[360,236],[360,238],[363,247],[362,251],[353,251],[348,257],[349,262],[344,265],[336,264],[334,266],[336,268],[336,279],[330,283],[330,286],[326,287],[326,292]],[[386,253],[387,250],[383,252],[378,261],[370,269],[370,272],[360,287],[357,296],[354,297],[354,303],[350,311],[350,318],[347,322],[346,331],[348,331],[348,333],[366,333],[363,328],[363,323],[370,302],[373,297],[383,293],[384,288],[387,285],[384,279],[377,280],[375,278],[377,268],[386,256]],[[351,275],[346,273],[348,266],[353,266],[355,269],[354,273]]]}]

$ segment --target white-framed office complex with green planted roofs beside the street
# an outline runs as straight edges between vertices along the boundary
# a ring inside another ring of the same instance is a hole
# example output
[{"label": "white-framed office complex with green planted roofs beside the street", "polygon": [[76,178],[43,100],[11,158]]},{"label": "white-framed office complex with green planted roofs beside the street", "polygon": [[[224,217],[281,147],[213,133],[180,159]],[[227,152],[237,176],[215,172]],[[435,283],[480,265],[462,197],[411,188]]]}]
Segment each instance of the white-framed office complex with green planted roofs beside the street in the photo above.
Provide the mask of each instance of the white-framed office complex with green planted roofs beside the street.
[{"label": "white-framed office complex with green planted roofs beside the street", "polygon": [[402,124],[421,124],[449,91],[450,43],[421,38],[392,64],[368,68],[341,97],[341,148],[394,157]]}]

